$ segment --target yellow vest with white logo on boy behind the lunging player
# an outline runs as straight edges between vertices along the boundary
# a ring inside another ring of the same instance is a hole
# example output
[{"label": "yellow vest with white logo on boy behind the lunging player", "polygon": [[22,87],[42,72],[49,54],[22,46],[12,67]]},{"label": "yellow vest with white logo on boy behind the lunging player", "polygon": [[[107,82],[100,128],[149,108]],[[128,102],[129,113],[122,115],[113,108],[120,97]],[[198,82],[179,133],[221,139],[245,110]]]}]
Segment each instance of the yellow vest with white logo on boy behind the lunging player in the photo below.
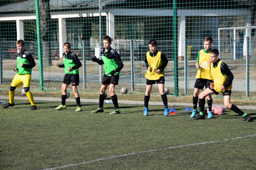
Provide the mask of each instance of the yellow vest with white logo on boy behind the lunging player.
[{"label": "yellow vest with white logo on boy behind the lunging player", "polygon": [[210,75],[211,69],[208,65],[208,62],[210,61],[210,53],[204,53],[204,49],[200,50],[199,54],[199,69],[196,74],[196,79],[208,79],[212,80],[212,76]]}]

